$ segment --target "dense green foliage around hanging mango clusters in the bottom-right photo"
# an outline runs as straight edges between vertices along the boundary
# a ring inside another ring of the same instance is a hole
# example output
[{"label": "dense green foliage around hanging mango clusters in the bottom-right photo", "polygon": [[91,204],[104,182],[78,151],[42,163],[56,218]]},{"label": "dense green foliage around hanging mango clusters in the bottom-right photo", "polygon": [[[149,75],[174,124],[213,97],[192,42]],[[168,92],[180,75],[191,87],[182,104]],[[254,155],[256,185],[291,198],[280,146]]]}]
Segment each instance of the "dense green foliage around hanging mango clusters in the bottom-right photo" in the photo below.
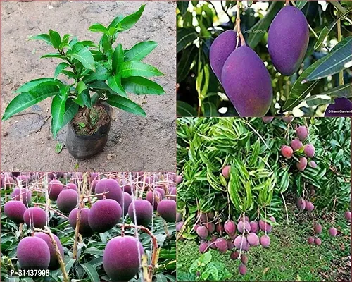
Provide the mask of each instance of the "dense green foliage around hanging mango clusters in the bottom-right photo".
[{"label": "dense green foliage around hanging mango clusters in the bottom-right photo", "polygon": [[[295,128],[306,125],[308,140],[315,147],[317,168],[298,171],[296,162],[280,148],[296,137]],[[285,123],[274,118],[179,118],[177,120],[177,170],[183,181],[177,185],[178,209],[193,219],[197,211],[218,211],[222,220],[237,219],[242,212],[251,218],[266,218],[284,210],[284,198],[298,197],[308,186],[318,209],[347,209],[351,198],[350,118],[295,118]],[[221,170],[231,165],[226,183]],[[187,226],[185,237],[191,236]]]}]

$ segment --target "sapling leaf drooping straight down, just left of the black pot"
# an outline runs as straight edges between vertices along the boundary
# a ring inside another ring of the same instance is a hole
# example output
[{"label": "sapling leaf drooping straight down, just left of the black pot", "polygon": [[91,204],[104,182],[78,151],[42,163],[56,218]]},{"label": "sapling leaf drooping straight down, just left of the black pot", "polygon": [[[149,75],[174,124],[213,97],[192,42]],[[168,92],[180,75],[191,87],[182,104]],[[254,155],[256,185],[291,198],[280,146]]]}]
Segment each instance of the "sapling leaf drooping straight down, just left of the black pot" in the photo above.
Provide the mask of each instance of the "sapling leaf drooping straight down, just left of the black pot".
[{"label": "sapling leaf drooping straight down, just left of the black pot", "polygon": [[53,133],[54,139],[62,128],[67,98],[67,92],[63,95],[60,93],[56,94],[51,102],[51,133]]}]

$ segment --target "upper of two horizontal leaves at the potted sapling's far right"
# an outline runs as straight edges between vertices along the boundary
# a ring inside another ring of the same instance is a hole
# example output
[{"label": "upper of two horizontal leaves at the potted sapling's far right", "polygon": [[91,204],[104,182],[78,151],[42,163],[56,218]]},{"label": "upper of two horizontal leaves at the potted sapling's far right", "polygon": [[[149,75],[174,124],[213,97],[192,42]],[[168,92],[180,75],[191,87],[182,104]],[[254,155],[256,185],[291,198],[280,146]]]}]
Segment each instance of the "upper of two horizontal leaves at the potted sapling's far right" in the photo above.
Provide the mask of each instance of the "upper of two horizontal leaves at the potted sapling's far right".
[{"label": "upper of two horizontal leaves at the potted sapling's far right", "polygon": [[137,61],[125,61],[120,64],[118,73],[121,78],[128,78],[130,76],[145,76],[147,78],[151,76],[164,75],[157,68],[149,65],[148,63],[141,63]]}]

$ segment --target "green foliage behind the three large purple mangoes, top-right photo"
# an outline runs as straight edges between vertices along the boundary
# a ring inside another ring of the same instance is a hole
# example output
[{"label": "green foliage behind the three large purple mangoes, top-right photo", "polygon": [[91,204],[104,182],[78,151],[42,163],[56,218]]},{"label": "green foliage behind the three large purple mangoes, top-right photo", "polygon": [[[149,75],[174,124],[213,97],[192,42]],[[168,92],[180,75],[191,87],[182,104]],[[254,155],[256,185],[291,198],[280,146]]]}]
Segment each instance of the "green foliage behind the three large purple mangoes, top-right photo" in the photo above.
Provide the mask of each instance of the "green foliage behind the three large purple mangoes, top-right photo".
[{"label": "green foliage behind the three large purple mangoes, top-right photo", "polygon": [[[310,25],[308,50],[302,66],[290,77],[279,74],[268,54],[268,29],[284,6],[283,1],[241,4],[241,31],[246,44],[265,62],[272,80],[274,99],[268,116],[295,114],[322,116],[327,104],[337,97],[351,98],[351,4],[326,1],[295,1]],[[236,2],[183,1],[177,4],[177,115],[238,116],[209,65],[209,49],[213,40],[225,30],[232,30],[237,17]],[[227,17],[227,20],[222,18]],[[337,26],[341,23],[341,42],[337,43]],[[349,91],[341,87],[339,74]],[[301,82],[304,82],[301,84]],[[349,86],[348,86],[349,85]],[[303,103],[307,102],[307,104]],[[220,110],[221,109],[221,110]],[[301,110],[301,111],[298,111]],[[294,111],[294,112],[293,112]]]}]

